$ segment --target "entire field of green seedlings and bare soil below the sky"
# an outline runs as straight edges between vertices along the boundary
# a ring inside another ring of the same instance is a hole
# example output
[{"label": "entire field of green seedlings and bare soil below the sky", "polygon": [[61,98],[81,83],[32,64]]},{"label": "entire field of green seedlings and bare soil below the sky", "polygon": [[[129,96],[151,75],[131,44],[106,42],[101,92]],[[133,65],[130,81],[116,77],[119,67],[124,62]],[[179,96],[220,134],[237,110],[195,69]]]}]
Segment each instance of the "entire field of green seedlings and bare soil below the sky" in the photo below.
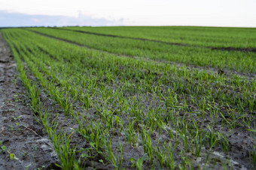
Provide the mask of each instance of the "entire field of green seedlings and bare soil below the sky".
[{"label": "entire field of green seedlings and bare soil below the sky", "polygon": [[256,28],[0,33],[0,169],[256,169]]}]

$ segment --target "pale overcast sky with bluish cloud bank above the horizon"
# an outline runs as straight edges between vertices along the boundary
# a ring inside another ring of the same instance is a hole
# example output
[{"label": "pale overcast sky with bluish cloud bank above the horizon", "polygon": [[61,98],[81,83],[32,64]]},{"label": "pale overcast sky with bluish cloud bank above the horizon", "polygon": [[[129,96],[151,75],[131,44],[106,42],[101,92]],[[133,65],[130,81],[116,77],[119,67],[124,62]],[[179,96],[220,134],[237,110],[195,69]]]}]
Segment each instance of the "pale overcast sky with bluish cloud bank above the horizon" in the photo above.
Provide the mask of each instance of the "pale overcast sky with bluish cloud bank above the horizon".
[{"label": "pale overcast sky with bluish cloud bank above the horizon", "polygon": [[0,0],[0,26],[256,27],[256,0]]}]

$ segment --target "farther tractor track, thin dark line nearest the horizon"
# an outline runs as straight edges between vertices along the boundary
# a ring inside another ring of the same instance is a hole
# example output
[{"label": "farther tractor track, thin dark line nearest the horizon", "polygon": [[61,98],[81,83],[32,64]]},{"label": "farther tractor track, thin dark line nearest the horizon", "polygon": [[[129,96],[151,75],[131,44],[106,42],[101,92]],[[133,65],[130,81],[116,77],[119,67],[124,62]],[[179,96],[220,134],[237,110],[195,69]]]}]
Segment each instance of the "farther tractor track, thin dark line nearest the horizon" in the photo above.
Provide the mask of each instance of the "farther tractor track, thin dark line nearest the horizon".
[{"label": "farther tractor track, thin dark line nearest the horizon", "polygon": [[238,52],[256,52],[256,48],[239,48],[239,47],[217,47],[217,46],[194,46],[186,43],[170,43],[162,40],[151,40],[148,38],[141,38],[141,37],[126,37],[126,36],[120,36],[120,35],[113,35],[113,34],[101,34],[96,32],[90,32],[90,31],[80,31],[80,30],[73,30],[73,29],[66,29],[66,28],[54,28],[54,29],[60,29],[60,30],[66,30],[66,31],[75,31],[80,32],[84,34],[94,34],[98,36],[104,36],[104,37],[119,37],[119,38],[126,38],[126,39],[132,39],[132,40],[143,40],[143,41],[151,41],[156,43],[165,43],[172,46],[188,46],[188,47],[194,47],[194,48],[206,48],[206,49],[212,49],[212,50],[222,50],[222,51],[238,51]]}]

